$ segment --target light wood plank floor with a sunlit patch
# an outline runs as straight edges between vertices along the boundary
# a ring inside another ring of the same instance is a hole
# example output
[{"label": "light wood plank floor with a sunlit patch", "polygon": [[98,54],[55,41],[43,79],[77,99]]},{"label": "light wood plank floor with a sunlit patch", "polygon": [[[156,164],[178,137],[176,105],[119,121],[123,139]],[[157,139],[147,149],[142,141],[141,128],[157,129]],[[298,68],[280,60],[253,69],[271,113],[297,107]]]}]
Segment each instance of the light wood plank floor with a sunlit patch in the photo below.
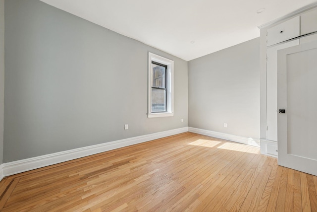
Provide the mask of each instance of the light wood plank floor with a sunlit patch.
[{"label": "light wood plank floor with a sunlit patch", "polygon": [[184,133],[4,178],[0,211],[317,212],[317,176]]}]

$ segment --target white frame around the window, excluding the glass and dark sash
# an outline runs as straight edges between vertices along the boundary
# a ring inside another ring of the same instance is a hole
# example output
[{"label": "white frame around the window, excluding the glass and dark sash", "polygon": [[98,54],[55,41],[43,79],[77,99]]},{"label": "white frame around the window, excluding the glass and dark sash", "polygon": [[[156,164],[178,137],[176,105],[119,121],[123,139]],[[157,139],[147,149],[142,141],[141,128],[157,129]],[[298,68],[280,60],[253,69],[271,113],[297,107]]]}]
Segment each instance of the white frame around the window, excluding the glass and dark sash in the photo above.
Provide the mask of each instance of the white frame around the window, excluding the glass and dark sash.
[{"label": "white frame around the window, excluding the glass and dark sash", "polygon": [[[167,66],[167,112],[152,112],[152,61]],[[148,118],[174,116],[174,61],[149,52],[148,65]]]}]

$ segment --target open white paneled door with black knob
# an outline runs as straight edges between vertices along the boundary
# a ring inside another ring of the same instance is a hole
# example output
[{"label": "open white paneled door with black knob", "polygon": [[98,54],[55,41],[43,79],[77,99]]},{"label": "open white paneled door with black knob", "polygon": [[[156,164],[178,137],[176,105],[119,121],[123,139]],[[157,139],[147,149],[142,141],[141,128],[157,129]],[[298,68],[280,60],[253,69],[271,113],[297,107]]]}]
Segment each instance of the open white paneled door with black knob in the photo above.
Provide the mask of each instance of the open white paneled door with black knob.
[{"label": "open white paneled door with black knob", "polygon": [[278,164],[317,175],[317,41],[277,53]]}]

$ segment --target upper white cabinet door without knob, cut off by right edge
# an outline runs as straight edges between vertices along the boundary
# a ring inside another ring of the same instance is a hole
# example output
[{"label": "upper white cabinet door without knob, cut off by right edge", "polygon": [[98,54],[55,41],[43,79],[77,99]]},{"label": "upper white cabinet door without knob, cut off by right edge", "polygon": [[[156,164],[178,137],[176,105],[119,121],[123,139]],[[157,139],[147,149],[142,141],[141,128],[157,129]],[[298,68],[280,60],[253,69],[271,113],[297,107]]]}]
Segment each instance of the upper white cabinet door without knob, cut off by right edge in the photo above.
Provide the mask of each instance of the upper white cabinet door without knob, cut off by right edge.
[{"label": "upper white cabinet door without knob, cut off by right edge", "polygon": [[301,35],[317,32],[317,9],[301,15]]}]

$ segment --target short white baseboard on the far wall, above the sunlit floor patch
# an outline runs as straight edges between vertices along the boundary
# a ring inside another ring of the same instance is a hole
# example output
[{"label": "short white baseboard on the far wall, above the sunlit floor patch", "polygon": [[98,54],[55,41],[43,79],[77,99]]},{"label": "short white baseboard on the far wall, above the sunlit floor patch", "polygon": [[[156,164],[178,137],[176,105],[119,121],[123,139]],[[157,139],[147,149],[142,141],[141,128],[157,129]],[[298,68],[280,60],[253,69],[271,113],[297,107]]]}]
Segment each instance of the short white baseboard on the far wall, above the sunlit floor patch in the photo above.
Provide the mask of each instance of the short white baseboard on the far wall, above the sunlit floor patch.
[{"label": "short white baseboard on the far wall, above the sunlit floor patch", "polygon": [[188,131],[192,132],[192,133],[198,133],[201,135],[214,137],[217,139],[224,139],[224,140],[228,140],[228,141],[234,141],[234,142],[238,142],[238,143],[243,143],[243,144],[248,144],[248,145],[260,147],[260,140],[259,139],[247,138],[247,137],[242,137],[242,136],[234,136],[234,135],[230,135],[230,134],[219,133],[219,132],[214,132],[214,131],[210,131],[210,130],[202,130],[202,129],[192,128],[192,127],[188,127]]}]

